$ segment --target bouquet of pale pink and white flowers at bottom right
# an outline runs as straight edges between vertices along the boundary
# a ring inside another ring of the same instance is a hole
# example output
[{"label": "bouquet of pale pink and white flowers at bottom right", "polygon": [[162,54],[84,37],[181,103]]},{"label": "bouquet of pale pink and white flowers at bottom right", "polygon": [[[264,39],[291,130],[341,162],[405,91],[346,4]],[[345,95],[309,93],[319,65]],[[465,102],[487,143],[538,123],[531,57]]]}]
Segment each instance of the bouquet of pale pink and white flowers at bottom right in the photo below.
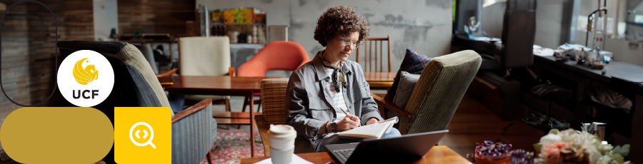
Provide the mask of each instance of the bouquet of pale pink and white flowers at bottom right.
[{"label": "bouquet of pale pink and white flowers at bottom right", "polygon": [[534,144],[534,148],[540,153],[534,163],[629,163],[623,161],[629,153],[629,144],[614,148],[610,144],[602,144],[597,135],[587,133],[587,130],[549,130],[549,134],[540,138],[540,143]]}]

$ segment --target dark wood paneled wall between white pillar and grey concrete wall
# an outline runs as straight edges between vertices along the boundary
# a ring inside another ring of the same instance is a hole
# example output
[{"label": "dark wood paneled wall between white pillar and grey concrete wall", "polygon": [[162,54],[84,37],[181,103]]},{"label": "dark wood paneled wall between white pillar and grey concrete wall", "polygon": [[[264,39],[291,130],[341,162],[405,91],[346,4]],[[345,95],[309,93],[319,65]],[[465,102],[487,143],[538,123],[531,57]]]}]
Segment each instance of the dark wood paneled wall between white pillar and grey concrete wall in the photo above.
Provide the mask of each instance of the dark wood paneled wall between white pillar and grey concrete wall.
[{"label": "dark wood paneled wall between white pillar and grey concrete wall", "polygon": [[119,33],[134,34],[139,30],[186,36],[186,21],[195,21],[195,3],[195,0],[118,1]]}]

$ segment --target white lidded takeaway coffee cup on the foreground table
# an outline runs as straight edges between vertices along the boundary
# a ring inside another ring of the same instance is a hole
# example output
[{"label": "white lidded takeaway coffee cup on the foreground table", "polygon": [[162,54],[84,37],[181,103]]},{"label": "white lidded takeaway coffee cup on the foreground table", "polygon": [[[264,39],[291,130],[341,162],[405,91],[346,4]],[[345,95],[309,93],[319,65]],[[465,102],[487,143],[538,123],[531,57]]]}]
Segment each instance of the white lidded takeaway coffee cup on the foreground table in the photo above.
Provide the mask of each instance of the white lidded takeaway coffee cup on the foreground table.
[{"label": "white lidded takeaway coffee cup on the foreground table", "polygon": [[296,130],[290,125],[270,125],[268,138],[270,140],[270,155],[274,164],[289,164],[294,152]]}]

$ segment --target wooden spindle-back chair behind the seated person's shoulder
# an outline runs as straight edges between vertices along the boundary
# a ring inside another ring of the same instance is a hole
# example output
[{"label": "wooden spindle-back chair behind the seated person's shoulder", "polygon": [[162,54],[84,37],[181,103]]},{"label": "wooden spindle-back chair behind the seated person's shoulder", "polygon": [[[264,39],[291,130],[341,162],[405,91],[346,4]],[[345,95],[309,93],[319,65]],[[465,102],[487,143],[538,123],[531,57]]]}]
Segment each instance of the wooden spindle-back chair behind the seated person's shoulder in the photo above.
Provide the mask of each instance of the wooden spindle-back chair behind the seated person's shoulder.
[{"label": "wooden spindle-back chair behind the seated person's shoulder", "polygon": [[[379,41],[379,60],[377,57],[377,43]],[[368,38],[364,43],[364,49],[362,50],[361,46],[357,46],[357,63],[359,63],[359,51],[364,51],[364,72],[384,72],[384,51],[382,51],[382,42],[387,41],[387,56],[388,57],[388,69],[387,72],[391,72],[391,35],[387,38]],[[375,45],[375,46],[373,46]],[[373,50],[375,50],[373,52]],[[379,61],[379,71],[377,71],[377,61]],[[372,87],[372,86],[371,86]]]}]

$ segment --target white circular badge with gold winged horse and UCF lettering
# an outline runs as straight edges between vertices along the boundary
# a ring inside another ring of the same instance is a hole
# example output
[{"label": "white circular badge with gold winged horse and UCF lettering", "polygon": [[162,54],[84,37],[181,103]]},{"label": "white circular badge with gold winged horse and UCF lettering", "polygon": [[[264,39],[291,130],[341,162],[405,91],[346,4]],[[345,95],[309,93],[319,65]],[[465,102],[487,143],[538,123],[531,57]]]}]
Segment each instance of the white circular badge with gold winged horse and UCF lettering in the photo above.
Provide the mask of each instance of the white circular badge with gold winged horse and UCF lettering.
[{"label": "white circular badge with gold winged horse and UCF lettering", "polygon": [[76,106],[91,107],[105,101],[114,88],[114,69],[101,53],[71,53],[58,68],[58,88]]}]

